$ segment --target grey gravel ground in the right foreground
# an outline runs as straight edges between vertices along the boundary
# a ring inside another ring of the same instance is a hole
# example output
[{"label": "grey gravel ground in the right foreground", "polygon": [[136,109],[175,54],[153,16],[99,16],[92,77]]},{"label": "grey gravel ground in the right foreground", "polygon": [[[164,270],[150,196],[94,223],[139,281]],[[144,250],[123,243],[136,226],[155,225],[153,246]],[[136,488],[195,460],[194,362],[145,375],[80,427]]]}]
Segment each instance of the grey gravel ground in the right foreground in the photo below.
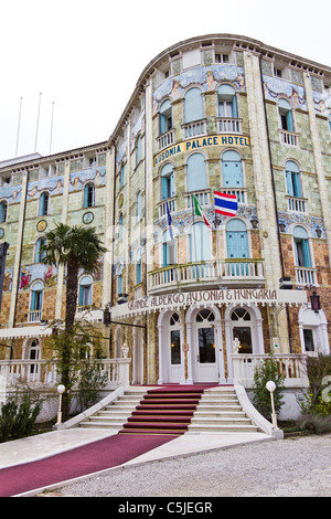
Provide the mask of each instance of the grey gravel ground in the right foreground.
[{"label": "grey gravel ground in the right foreground", "polygon": [[67,485],[54,494],[67,497],[331,497],[331,434],[253,443],[116,468]]}]

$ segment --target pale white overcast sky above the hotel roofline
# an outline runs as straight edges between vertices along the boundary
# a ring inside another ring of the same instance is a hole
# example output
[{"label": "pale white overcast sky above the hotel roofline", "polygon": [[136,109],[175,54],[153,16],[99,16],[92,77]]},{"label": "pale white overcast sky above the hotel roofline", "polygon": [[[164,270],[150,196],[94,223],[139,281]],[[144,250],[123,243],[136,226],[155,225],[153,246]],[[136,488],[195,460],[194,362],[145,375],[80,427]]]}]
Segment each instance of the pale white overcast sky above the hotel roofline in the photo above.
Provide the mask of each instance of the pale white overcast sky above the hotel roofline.
[{"label": "pale white overcast sky above the hotel roofline", "polygon": [[2,2],[0,161],[103,142],[169,46],[245,35],[331,66],[330,0]]}]

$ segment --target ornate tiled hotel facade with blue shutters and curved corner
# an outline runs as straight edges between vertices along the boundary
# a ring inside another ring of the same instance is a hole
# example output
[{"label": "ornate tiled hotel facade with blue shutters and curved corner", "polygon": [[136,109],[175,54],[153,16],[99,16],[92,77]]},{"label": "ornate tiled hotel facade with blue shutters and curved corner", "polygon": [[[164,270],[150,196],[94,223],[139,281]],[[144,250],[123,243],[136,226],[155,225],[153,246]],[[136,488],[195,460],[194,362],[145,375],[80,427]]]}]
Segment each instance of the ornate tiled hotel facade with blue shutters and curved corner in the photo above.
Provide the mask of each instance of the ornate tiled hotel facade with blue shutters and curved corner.
[{"label": "ornate tiled hotel facade with blue shutters and curved corner", "polygon": [[111,304],[107,354],[128,345],[132,383],[232,383],[237,351],[330,352],[330,67],[261,42],[158,55],[107,141],[0,170],[3,337],[63,315],[64,273],[38,254],[65,221],[109,251],[77,303]]}]

